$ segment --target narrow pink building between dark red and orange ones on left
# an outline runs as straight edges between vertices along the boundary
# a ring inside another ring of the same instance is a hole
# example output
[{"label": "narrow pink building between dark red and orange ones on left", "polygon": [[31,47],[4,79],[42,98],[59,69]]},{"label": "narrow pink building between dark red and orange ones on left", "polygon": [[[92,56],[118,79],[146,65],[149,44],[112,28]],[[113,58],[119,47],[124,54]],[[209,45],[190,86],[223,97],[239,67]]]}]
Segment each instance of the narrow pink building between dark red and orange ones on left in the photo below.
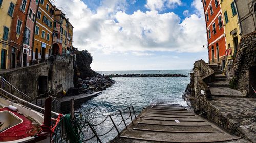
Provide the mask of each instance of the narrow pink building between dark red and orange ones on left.
[{"label": "narrow pink building between dark red and orange ones on left", "polygon": [[28,6],[28,13],[25,22],[25,33],[22,51],[22,67],[29,66],[32,60],[32,48],[34,42],[34,27],[39,0],[31,0]]}]

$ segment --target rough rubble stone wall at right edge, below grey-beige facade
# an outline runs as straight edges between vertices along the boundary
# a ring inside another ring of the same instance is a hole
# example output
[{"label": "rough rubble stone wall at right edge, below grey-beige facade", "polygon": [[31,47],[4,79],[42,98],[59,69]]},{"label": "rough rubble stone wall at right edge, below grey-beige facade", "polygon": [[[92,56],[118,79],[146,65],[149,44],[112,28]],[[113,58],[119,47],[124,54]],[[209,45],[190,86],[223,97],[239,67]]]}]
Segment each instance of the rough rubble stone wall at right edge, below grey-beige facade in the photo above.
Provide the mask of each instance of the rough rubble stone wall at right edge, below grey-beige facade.
[{"label": "rough rubble stone wall at right edge, below grey-beige facade", "polygon": [[236,59],[232,68],[227,71],[228,76],[232,76],[230,84],[248,97],[253,97],[252,87],[256,88],[255,72],[256,66],[256,32],[241,38]]}]

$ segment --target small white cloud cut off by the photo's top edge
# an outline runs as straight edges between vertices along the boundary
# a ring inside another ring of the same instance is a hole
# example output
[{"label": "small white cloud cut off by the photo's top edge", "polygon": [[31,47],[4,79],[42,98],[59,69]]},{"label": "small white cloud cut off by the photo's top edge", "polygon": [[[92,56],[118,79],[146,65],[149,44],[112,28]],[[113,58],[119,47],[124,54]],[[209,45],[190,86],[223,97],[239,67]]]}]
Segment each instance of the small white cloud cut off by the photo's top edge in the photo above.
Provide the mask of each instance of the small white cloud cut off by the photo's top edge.
[{"label": "small white cloud cut off by the photo's top edge", "polygon": [[150,10],[163,10],[166,6],[168,8],[175,8],[182,4],[181,0],[147,0],[145,7]]}]

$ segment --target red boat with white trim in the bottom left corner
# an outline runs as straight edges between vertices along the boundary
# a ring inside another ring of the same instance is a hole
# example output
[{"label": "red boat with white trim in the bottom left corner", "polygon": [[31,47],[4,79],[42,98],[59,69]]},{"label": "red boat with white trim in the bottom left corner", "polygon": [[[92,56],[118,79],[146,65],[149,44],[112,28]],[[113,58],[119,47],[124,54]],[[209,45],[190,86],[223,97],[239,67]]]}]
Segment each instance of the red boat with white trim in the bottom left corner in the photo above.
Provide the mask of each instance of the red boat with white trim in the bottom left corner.
[{"label": "red boat with white trim in the bottom left corner", "polygon": [[[26,138],[28,136],[33,136],[40,131],[40,126],[38,124],[33,124],[33,121],[25,117],[24,115],[14,112],[8,109],[7,107],[0,109],[0,113],[3,113],[3,112],[11,112],[11,116],[13,115],[14,116],[0,118],[0,122],[3,124],[3,126],[10,126],[9,128],[0,131],[0,142],[14,141],[14,140]],[[16,119],[13,119],[13,118],[16,118]],[[4,119],[6,121],[3,121]],[[9,120],[9,123],[13,123],[14,120],[18,120],[19,122],[17,122],[15,125],[12,125],[12,124],[8,125],[7,123],[8,120]]]}]

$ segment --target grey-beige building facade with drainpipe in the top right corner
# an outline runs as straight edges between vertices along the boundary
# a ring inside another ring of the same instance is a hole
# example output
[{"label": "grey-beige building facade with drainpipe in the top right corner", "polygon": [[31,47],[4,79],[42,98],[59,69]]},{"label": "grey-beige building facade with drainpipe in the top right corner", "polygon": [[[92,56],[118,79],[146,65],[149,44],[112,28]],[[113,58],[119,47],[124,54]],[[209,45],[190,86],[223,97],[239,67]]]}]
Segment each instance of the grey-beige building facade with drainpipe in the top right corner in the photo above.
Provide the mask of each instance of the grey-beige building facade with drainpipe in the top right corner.
[{"label": "grey-beige building facade with drainpipe in the top right corner", "polygon": [[256,31],[256,1],[255,0],[234,0],[239,23],[241,25],[240,35],[245,36]]}]

